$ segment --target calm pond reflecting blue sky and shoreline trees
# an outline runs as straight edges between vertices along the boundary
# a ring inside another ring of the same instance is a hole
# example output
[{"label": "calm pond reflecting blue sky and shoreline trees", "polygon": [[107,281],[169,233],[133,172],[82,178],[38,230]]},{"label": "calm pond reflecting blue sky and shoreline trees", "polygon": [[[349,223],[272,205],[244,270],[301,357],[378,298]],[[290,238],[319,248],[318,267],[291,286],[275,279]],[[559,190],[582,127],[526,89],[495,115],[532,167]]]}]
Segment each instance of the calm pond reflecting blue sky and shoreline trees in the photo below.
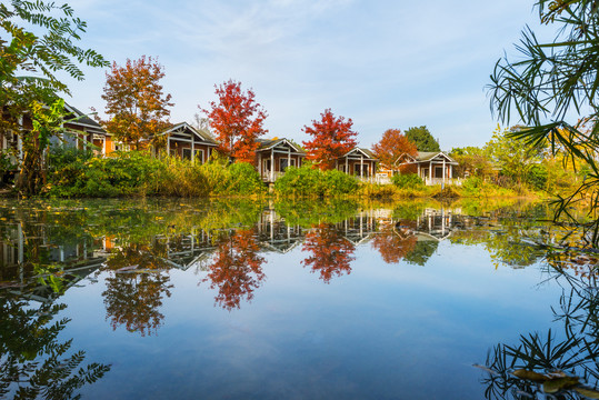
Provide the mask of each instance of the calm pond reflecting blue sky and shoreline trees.
[{"label": "calm pond reflecting blue sky and shoreline trees", "polygon": [[4,201],[0,398],[597,398],[597,260],[548,217]]}]

